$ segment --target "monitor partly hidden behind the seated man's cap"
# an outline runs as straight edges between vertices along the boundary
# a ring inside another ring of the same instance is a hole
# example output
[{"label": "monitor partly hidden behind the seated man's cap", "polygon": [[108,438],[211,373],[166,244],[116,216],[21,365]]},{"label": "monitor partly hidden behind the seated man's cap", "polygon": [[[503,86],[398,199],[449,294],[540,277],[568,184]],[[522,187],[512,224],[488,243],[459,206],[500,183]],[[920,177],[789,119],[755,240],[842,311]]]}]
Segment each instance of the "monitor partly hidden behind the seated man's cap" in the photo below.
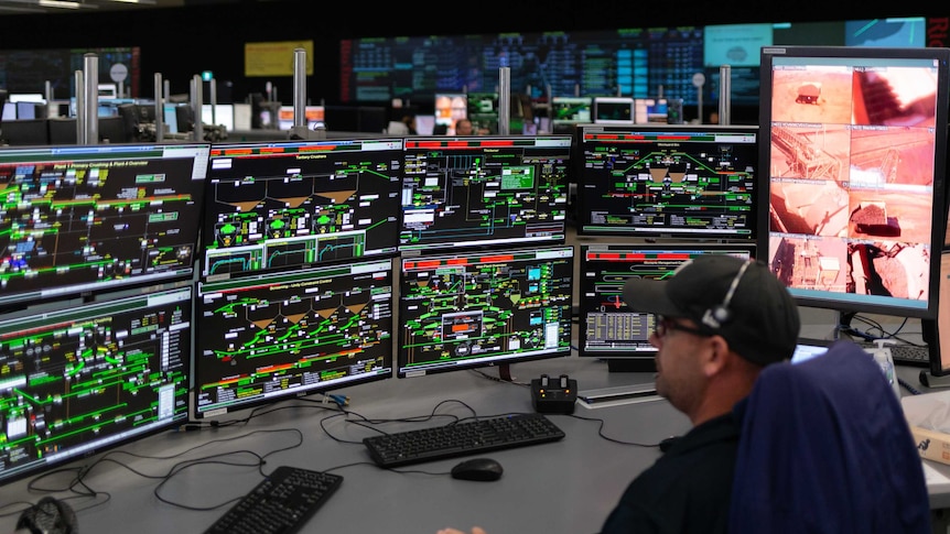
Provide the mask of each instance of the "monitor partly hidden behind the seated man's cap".
[{"label": "monitor partly hidden behind the seated man's cap", "polygon": [[581,243],[581,358],[607,361],[611,371],[656,370],[650,345],[656,318],[633,312],[623,301],[624,283],[633,277],[662,280],[682,263],[703,254],[755,258],[753,243]]}]

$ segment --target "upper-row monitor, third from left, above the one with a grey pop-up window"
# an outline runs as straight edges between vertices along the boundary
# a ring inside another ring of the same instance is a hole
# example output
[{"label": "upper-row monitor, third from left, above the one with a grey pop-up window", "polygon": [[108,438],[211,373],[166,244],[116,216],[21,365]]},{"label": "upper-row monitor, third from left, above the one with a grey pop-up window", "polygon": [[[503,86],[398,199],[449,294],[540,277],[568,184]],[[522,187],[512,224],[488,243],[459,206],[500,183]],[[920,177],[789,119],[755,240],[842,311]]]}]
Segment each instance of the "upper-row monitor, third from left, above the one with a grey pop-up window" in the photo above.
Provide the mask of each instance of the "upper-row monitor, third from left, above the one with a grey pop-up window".
[{"label": "upper-row monitor, third from left, above the one with a grey pop-up window", "polygon": [[571,139],[407,138],[400,251],[563,242]]}]

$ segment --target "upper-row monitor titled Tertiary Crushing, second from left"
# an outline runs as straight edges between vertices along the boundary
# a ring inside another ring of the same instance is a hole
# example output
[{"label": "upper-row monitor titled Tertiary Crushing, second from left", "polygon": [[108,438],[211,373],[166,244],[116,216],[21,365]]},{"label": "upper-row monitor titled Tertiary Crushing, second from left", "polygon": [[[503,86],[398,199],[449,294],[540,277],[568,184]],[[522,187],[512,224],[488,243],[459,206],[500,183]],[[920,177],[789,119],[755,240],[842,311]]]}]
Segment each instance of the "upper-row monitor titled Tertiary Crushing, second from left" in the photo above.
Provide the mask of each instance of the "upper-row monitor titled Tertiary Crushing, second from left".
[{"label": "upper-row monitor titled Tertiary Crushing, second from left", "polygon": [[396,254],[402,155],[401,138],[215,145],[201,274]]}]

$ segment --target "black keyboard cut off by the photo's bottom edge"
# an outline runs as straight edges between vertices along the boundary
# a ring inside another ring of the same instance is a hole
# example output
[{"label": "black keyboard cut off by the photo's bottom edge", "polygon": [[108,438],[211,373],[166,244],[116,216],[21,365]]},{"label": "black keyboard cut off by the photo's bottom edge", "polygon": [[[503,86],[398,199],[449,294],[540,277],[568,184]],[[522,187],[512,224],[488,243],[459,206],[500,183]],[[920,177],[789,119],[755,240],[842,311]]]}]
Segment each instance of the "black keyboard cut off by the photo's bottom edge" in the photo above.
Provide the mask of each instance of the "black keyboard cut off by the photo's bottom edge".
[{"label": "black keyboard cut off by the photo's bottom edge", "polygon": [[228,509],[205,534],[291,534],[330,499],[343,477],[280,466]]}]

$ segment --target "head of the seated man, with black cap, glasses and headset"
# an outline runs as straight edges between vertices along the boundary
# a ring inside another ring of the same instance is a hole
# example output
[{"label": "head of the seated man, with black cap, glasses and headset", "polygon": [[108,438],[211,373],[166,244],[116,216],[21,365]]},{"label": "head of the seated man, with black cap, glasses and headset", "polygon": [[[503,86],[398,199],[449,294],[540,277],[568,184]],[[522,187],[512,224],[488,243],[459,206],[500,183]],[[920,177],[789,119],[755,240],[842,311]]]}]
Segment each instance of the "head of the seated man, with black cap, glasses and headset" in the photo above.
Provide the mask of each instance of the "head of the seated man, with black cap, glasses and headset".
[{"label": "head of the seated man, with black cap, glasses and headset", "polygon": [[798,307],[760,262],[704,254],[663,281],[629,279],[623,296],[657,316],[657,392],[694,423],[731,408],[798,341]]}]

